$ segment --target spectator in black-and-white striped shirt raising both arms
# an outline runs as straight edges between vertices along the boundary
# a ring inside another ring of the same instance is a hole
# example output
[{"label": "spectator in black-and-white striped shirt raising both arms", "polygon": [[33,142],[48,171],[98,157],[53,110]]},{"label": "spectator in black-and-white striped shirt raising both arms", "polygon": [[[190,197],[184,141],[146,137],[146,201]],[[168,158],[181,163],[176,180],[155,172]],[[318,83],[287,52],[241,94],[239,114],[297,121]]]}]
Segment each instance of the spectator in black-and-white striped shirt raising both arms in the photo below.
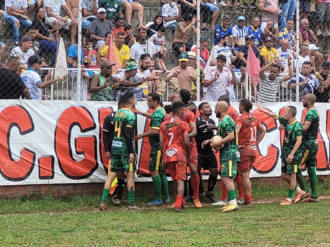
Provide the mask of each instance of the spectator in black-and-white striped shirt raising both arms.
[{"label": "spectator in black-and-white striped shirt raising both arms", "polygon": [[[261,68],[259,76],[261,81],[259,82],[258,102],[276,102],[276,95],[279,90],[279,85],[284,81],[290,80],[293,76],[292,58],[288,57],[289,74],[286,76],[279,76],[281,72],[281,66],[278,64],[278,60],[274,58],[271,63]],[[269,76],[265,75],[265,72],[270,69]]]}]

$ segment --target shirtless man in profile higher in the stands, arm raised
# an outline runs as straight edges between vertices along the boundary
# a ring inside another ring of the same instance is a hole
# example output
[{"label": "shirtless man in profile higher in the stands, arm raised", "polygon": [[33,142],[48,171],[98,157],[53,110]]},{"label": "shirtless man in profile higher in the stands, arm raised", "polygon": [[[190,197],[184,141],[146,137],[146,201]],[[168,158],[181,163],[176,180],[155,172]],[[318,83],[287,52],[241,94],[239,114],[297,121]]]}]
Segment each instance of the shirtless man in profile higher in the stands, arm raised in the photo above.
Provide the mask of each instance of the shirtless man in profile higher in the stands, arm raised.
[{"label": "shirtless man in profile higher in the stands, arm raised", "polygon": [[186,21],[182,21],[177,24],[177,27],[175,28],[174,31],[173,44],[172,44],[173,50],[175,50],[177,53],[183,52],[184,44],[186,44],[186,50],[187,51],[190,50],[191,44],[187,43],[188,36],[191,33],[191,31],[197,34],[197,29],[194,26],[196,21],[197,18],[193,17],[190,20],[188,19]]}]

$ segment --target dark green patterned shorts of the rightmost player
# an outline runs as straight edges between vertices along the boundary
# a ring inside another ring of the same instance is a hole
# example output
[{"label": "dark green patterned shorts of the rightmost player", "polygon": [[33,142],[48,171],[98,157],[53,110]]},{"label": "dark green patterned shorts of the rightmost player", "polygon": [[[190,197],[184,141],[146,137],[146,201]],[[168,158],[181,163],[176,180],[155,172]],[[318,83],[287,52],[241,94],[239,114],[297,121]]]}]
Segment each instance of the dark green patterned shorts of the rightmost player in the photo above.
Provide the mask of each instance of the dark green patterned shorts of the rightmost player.
[{"label": "dark green patterned shorts of the rightmost player", "polygon": [[302,159],[300,165],[306,164],[307,167],[316,167],[316,156],[319,150],[319,142],[317,140],[306,140],[301,146]]}]

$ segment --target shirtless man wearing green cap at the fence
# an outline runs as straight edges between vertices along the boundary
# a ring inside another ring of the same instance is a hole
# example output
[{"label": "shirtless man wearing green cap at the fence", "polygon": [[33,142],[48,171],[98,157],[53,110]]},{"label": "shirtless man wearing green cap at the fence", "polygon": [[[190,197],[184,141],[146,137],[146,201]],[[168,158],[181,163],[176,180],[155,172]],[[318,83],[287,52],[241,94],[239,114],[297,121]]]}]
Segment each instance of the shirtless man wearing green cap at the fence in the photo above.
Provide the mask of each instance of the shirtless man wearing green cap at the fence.
[{"label": "shirtless man wearing green cap at the fence", "polygon": [[[179,87],[187,89],[191,93],[191,82],[195,82],[194,71],[191,66],[188,66],[189,55],[187,52],[181,52],[179,56],[179,66],[174,67],[165,77],[164,81],[169,82],[171,78],[178,79]],[[179,92],[178,92],[179,93]]]}]

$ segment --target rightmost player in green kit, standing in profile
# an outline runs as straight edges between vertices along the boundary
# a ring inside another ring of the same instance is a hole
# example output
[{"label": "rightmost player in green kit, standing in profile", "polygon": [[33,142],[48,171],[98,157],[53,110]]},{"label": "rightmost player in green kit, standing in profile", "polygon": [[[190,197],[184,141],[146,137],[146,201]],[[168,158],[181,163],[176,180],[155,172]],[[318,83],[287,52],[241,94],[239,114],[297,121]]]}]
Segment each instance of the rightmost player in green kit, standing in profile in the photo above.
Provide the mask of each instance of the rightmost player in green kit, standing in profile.
[{"label": "rightmost player in green kit, standing in profile", "polygon": [[[318,131],[320,125],[320,115],[318,110],[314,107],[314,103],[316,101],[316,96],[312,93],[308,93],[304,96],[302,103],[303,106],[307,108],[308,112],[305,117],[305,122],[303,125],[303,135],[302,135],[302,144],[300,146],[302,152],[302,160],[301,165],[306,164],[307,172],[309,176],[309,181],[311,184],[312,195],[308,197],[301,194],[301,202],[306,203],[316,203],[319,201],[317,195],[317,181],[318,178],[316,176],[316,156],[319,150],[319,143],[318,143]],[[301,172],[297,173],[297,181],[303,191],[307,191],[307,187],[305,184],[304,177],[302,176]],[[296,200],[294,203],[297,203],[299,200],[299,195],[297,195]],[[296,202],[297,201],[297,202]]]}]

